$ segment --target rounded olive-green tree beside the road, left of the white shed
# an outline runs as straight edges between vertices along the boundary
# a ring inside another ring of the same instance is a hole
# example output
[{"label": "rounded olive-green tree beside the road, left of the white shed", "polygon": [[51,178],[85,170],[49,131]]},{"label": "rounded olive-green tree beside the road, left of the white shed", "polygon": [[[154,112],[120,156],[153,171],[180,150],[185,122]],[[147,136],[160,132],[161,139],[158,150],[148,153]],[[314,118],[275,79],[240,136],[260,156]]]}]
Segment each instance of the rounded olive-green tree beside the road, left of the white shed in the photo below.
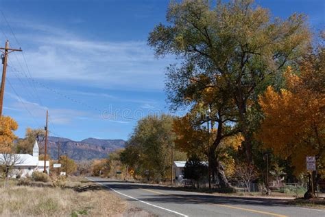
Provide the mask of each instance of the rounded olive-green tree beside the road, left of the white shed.
[{"label": "rounded olive-green tree beside the road, left of the white shed", "polygon": [[121,153],[121,161],[134,168],[135,174],[143,175],[149,170],[149,176],[155,181],[166,179],[170,176],[175,139],[172,124],[173,117],[169,115],[140,119]]}]

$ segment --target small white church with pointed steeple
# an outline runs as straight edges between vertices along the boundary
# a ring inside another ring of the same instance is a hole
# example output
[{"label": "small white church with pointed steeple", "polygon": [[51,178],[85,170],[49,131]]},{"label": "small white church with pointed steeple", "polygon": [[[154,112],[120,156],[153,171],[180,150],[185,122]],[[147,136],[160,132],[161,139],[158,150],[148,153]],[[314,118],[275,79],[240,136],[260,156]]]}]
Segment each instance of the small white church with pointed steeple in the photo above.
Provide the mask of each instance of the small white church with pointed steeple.
[{"label": "small white church with pointed steeple", "polygon": [[[44,161],[38,159],[38,143],[35,141],[33,148],[33,155],[29,154],[14,154],[14,157],[18,159],[14,164],[14,169],[10,172],[11,177],[17,175],[21,177],[32,176],[34,171],[44,171]],[[3,162],[3,154],[0,154],[0,163]],[[49,161],[46,161],[45,170],[49,174]]]}]

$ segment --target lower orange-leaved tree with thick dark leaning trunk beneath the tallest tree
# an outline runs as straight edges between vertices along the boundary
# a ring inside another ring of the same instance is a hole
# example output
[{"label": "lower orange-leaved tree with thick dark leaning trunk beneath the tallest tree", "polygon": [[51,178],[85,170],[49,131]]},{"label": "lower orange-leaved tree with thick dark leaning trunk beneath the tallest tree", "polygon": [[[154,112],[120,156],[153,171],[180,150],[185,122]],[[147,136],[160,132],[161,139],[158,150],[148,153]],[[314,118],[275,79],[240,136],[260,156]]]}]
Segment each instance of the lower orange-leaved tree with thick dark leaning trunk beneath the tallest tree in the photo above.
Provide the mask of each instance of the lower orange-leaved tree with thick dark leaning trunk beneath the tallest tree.
[{"label": "lower orange-leaved tree with thick dark leaning trunk beneath the tallest tree", "polygon": [[[192,112],[195,109],[192,109]],[[173,125],[173,129],[176,132],[176,148],[188,153],[188,155],[199,155],[203,159],[208,160],[208,181],[209,187],[211,187],[210,179],[215,182],[215,177],[219,181],[221,187],[229,187],[230,184],[224,173],[224,164],[221,163],[218,151],[219,146],[223,139],[236,135],[238,128],[232,128],[225,124],[226,118],[221,115],[221,111],[217,111],[217,128],[212,126],[212,129],[202,126],[202,123],[208,124],[210,117],[201,118],[200,115],[190,114],[176,119]],[[200,117],[200,118],[197,118]],[[211,122],[210,122],[211,123]],[[212,122],[213,123],[213,122]]]}]

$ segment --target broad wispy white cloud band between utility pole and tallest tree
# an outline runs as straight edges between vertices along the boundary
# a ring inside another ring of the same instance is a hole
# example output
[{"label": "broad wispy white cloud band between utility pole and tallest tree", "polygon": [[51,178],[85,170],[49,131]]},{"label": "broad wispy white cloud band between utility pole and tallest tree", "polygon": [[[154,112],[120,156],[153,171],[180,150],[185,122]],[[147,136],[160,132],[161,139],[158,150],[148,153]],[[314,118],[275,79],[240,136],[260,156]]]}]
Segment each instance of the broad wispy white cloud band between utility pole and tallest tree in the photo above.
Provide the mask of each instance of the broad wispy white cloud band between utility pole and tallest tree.
[{"label": "broad wispy white cloud band between utility pole and tallest tree", "polygon": [[[23,23],[16,29],[35,30],[16,34],[34,78],[112,89],[163,89],[165,67],[172,60],[154,58],[145,41],[92,41],[57,27]],[[10,64],[19,62],[12,58]]]}]

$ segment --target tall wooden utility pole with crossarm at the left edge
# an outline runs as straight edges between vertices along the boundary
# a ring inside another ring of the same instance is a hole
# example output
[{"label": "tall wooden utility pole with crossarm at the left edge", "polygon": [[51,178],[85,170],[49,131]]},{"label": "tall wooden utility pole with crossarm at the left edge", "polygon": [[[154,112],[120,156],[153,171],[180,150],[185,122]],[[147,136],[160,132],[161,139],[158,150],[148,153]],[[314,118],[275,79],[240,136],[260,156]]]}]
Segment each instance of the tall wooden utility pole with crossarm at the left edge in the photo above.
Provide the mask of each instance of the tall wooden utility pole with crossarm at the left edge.
[{"label": "tall wooden utility pole with crossarm at the left edge", "polygon": [[[4,52],[2,51],[4,50]],[[7,71],[7,60],[8,60],[8,54],[12,52],[22,52],[22,49],[12,49],[9,48],[9,41],[7,40],[5,42],[5,47],[0,47],[0,52],[2,53],[2,80],[1,80],[1,94],[0,94],[0,117],[2,118],[2,108],[3,108],[3,95],[5,93],[5,73]]]}]

